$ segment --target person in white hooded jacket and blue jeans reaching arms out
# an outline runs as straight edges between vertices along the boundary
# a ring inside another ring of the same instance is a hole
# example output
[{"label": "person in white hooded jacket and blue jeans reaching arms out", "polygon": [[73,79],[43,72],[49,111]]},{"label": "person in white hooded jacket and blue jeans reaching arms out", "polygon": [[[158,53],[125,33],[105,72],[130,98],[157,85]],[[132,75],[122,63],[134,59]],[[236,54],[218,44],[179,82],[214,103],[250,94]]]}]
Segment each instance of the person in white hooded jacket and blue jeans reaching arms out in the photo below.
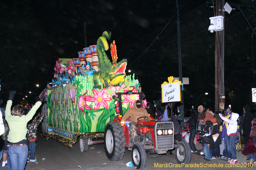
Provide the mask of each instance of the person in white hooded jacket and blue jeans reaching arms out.
[{"label": "person in white hooded jacket and blue jeans reaching arms out", "polygon": [[221,114],[219,114],[220,118],[228,123],[228,129],[227,129],[227,134],[228,135],[228,141],[227,141],[227,145],[228,145],[228,150],[231,152],[232,154],[232,159],[229,160],[228,162],[230,164],[236,164],[238,163],[238,160],[236,159],[236,131],[237,131],[237,119],[239,117],[239,115],[237,113],[231,113],[229,119],[223,117]]}]

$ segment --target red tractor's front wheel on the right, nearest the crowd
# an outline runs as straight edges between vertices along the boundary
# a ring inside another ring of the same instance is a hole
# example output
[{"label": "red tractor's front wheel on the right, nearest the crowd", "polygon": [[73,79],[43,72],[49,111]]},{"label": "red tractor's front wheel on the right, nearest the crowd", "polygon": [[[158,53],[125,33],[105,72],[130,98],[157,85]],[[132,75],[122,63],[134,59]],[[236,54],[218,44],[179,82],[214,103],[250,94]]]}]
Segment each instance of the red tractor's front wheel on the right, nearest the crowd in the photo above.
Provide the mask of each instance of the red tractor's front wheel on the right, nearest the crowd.
[{"label": "red tractor's front wheel on the right, nearest the crowd", "polygon": [[186,141],[180,141],[180,149],[176,147],[175,149],[175,159],[177,163],[189,164],[191,161],[191,149]]}]

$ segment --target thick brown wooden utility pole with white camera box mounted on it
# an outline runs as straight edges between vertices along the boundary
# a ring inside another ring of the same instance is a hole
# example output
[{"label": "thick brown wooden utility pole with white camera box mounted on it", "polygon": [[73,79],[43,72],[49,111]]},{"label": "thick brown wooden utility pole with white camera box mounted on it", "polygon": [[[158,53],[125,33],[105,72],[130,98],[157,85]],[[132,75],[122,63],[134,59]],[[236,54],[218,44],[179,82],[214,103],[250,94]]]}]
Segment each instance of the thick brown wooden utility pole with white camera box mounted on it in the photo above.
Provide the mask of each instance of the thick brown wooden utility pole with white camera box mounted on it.
[{"label": "thick brown wooden utility pole with white camera box mounted on it", "polygon": [[[216,16],[224,17],[224,0],[216,0]],[[224,90],[224,18],[223,30],[216,31],[215,42],[215,112],[220,112],[220,103],[224,99],[220,97],[225,96]],[[223,108],[224,109],[224,108]]]}]

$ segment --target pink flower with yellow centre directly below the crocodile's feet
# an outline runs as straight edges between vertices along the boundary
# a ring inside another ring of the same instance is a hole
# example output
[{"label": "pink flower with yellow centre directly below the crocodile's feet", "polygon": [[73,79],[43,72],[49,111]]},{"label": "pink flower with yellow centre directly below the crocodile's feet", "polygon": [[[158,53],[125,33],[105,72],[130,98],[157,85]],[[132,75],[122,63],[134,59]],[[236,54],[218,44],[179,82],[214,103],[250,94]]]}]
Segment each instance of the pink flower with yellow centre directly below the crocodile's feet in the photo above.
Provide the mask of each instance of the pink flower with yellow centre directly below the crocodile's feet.
[{"label": "pink flower with yellow centre directly below the crocodile's feet", "polygon": [[98,110],[100,106],[105,107],[108,109],[108,103],[106,101],[112,100],[111,98],[108,98],[108,95],[105,94],[104,89],[101,89],[100,92],[97,90],[92,89],[92,92],[94,94],[93,97],[91,97],[87,101],[92,101],[94,102],[94,111]]}]

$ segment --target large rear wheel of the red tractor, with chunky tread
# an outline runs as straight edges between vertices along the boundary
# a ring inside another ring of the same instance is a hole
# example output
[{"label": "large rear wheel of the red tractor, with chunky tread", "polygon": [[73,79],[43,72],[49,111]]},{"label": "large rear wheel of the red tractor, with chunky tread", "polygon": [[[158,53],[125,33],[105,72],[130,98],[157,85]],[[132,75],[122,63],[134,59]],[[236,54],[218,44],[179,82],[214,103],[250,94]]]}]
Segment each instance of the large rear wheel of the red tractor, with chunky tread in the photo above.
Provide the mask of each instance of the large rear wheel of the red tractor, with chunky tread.
[{"label": "large rear wheel of the red tractor, with chunky tread", "polygon": [[123,159],[125,152],[124,130],[118,122],[108,122],[104,132],[104,147],[108,160]]}]

